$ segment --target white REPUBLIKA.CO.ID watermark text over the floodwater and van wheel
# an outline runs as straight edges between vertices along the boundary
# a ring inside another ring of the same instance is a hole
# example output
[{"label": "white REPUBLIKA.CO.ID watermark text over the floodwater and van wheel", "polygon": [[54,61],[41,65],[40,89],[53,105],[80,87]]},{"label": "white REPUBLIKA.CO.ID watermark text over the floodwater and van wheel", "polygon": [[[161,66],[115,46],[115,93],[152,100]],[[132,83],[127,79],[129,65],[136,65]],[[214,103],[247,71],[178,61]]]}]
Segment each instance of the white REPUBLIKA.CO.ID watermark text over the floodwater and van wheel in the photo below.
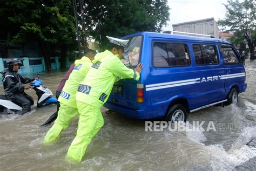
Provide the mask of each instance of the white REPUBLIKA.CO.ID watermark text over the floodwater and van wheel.
[{"label": "white REPUBLIKA.CO.ID watermark text over the floodwater and van wheel", "polygon": [[218,129],[233,129],[233,123],[214,123],[213,121],[193,121],[190,122],[167,122],[167,121],[145,121],[146,132],[162,132],[164,130],[171,132],[216,132]]}]

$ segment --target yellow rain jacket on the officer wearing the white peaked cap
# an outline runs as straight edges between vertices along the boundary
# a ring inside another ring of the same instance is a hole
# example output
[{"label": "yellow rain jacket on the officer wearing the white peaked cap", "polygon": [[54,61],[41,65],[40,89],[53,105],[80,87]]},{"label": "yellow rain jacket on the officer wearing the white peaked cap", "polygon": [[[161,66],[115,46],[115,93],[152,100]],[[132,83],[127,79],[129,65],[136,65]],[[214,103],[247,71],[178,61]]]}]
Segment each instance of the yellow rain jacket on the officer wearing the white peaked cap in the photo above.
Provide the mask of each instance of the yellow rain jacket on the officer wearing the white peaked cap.
[{"label": "yellow rain jacket on the officer wearing the white peaked cap", "polygon": [[106,50],[98,53],[86,78],[80,83],[76,99],[95,107],[102,107],[109,98],[113,84],[118,77],[139,80],[139,73],[127,68],[118,54]]}]

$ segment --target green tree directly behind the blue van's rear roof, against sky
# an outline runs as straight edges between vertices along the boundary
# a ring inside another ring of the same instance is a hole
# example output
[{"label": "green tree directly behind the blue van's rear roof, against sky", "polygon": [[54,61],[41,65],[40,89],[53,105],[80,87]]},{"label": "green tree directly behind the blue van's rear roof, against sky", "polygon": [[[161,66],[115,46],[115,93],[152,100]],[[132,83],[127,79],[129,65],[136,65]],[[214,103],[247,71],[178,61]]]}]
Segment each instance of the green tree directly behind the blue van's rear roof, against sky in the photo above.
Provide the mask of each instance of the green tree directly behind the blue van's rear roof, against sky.
[{"label": "green tree directly behind the blue van's rear roof, against sky", "polygon": [[121,37],[139,31],[160,32],[170,19],[167,1],[108,0],[85,3],[90,34],[106,43],[105,36]]}]

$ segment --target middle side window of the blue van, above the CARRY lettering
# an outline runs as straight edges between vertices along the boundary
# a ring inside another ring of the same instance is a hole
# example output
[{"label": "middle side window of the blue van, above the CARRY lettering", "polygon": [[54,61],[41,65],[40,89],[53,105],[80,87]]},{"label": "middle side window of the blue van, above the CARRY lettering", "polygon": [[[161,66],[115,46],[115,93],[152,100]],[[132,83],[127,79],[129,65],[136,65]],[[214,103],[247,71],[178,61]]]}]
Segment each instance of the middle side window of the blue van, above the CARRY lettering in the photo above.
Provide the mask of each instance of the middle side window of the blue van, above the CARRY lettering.
[{"label": "middle side window of the blue van, above the CARRY lettering", "polygon": [[214,45],[194,44],[193,51],[197,65],[214,65],[219,63],[217,48]]}]

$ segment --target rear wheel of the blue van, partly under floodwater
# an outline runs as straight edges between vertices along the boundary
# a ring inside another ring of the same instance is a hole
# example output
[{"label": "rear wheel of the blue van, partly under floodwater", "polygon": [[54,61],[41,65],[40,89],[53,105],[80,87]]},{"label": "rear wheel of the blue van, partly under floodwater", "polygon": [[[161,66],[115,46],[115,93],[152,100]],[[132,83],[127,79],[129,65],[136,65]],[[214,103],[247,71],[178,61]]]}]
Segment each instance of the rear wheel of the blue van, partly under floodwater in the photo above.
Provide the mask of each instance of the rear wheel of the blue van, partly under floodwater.
[{"label": "rear wheel of the blue van, partly under floodwater", "polygon": [[171,122],[174,122],[174,121],[186,122],[186,120],[187,120],[186,108],[181,104],[173,105],[170,108],[170,110],[167,112],[165,120],[171,121]]}]

